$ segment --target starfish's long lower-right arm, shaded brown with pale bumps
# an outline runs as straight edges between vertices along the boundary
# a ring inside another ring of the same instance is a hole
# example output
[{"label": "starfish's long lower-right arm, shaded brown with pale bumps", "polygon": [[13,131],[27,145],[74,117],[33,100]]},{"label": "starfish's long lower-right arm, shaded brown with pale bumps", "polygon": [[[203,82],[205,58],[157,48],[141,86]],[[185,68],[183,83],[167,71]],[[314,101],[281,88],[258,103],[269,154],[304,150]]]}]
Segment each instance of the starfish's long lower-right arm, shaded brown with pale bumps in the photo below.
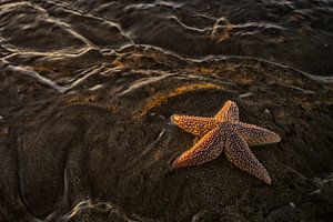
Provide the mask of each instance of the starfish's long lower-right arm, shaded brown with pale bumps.
[{"label": "starfish's long lower-right arm, shaded brown with pale bumps", "polygon": [[239,169],[256,176],[269,185],[272,184],[268,171],[253,155],[244,138],[235,132],[230,133],[226,138],[224,153],[226,159]]}]

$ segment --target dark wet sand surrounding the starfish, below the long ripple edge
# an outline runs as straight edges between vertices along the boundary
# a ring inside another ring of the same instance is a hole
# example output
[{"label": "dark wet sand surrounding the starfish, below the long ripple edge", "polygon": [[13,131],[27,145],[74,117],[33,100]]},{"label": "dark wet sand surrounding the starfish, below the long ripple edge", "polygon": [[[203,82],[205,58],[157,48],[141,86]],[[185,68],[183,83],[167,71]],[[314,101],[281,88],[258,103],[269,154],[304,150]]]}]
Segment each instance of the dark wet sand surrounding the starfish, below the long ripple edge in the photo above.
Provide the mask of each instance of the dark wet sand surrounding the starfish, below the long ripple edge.
[{"label": "dark wet sand surrounding the starfish, below the long ripple edge", "polygon": [[[1,221],[325,221],[333,215],[332,83],[253,59],[198,61],[151,48],[128,51],[101,56],[100,63],[89,60],[90,52],[61,67],[30,63],[43,77],[99,67],[68,93],[4,69],[0,88],[10,82],[11,89],[1,92],[2,108],[10,108],[1,110]],[[229,99],[239,104],[242,121],[282,138],[251,148],[271,186],[223,155],[171,171],[194,138],[171,124],[170,115],[213,115]]]}]

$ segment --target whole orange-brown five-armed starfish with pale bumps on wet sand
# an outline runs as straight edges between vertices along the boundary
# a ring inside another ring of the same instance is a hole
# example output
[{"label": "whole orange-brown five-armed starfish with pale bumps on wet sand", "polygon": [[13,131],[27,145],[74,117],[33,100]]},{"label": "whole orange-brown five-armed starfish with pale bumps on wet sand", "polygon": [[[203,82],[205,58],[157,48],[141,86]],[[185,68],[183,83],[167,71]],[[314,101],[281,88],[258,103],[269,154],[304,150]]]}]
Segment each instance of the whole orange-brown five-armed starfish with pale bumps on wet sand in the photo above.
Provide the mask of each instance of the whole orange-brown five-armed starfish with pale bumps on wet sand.
[{"label": "whole orange-brown five-armed starfish with pale bumps on wet sand", "polygon": [[275,143],[281,138],[264,128],[241,122],[235,102],[228,100],[213,118],[173,114],[171,121],[199,138],[192,148],[173,161],[172,169],[200,165],[224,152],[232,164],[272,184],[266,169],[249,145]]}]

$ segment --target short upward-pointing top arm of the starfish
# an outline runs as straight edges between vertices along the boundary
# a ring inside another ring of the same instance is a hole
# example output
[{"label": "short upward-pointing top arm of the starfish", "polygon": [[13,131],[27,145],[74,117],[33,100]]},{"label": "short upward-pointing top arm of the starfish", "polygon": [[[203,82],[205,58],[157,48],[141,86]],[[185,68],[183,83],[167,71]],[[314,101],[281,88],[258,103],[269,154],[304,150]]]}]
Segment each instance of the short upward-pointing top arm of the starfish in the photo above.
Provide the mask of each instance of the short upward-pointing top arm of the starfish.
[{"label": "short upward-pointing top arm of the starfish", "polygon": [[239,115],[239,107],[235,102],[228,100],[221,110],[215,114],[214,117],[219,121],[230,121],[230,122],[239,122],[240,115]]}]

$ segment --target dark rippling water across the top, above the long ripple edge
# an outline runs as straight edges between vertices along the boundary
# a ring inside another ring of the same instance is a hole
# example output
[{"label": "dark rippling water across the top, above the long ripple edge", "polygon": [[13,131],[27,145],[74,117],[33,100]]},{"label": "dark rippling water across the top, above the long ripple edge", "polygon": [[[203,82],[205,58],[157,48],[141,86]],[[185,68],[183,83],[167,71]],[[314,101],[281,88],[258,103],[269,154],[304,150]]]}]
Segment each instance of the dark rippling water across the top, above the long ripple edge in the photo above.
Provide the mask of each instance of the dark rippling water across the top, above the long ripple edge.
[{"label": "dark rippling water across the top, above the long ripple edge", "polygon": [[[61,60],[148,44],[243,56],[332,75],[332,1],[2,1],[1,56]],[[19,61],[17,61],[19,62]]]}]

